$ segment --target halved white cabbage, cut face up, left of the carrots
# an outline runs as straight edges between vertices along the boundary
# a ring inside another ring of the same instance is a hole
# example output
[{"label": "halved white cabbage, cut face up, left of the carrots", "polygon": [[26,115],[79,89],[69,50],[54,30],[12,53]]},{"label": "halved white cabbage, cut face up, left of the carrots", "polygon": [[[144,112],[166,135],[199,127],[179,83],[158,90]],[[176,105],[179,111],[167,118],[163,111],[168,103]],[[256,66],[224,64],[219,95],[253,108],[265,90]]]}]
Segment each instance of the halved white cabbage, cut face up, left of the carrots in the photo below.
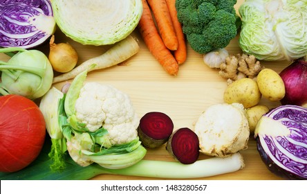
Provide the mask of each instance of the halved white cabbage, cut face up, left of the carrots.
[{"label": "halved white cabbage, cut face up, left of the carrots", "polygon": [[142,16],[141,0],[53,0],[57,26],[81,44],[114,44],[132,33]]}]

